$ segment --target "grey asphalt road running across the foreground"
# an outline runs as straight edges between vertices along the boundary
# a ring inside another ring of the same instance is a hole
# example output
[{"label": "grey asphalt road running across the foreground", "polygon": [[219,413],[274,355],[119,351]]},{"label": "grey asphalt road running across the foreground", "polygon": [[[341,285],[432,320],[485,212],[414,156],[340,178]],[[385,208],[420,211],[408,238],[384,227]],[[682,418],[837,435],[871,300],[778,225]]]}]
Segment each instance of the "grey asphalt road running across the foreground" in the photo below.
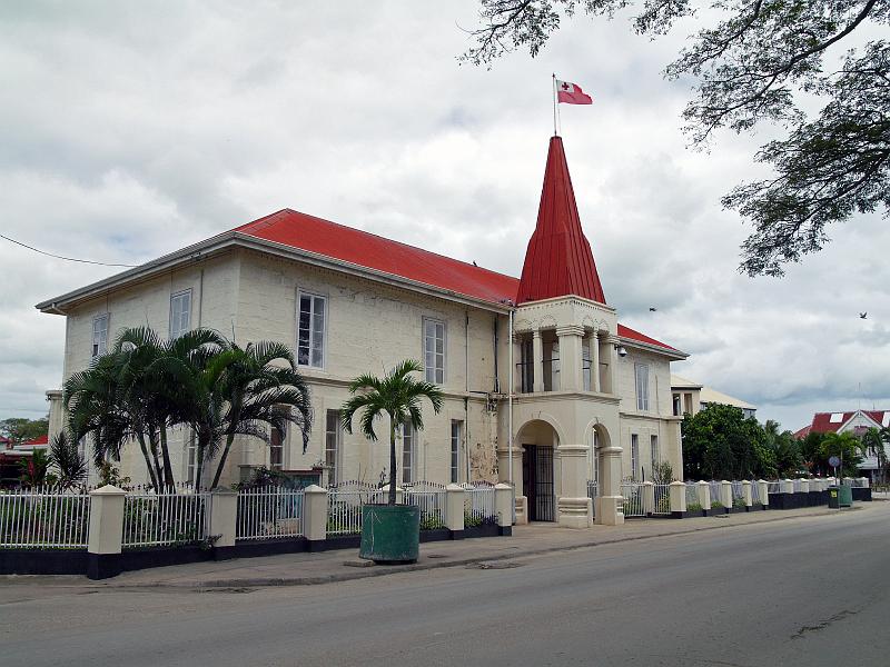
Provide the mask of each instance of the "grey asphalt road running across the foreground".
[{"label": "grey asphalt road running across the foreground", "polygon": [[889,552],[876,502],[324,586],[6,583],[0,665],[890,665]]}]

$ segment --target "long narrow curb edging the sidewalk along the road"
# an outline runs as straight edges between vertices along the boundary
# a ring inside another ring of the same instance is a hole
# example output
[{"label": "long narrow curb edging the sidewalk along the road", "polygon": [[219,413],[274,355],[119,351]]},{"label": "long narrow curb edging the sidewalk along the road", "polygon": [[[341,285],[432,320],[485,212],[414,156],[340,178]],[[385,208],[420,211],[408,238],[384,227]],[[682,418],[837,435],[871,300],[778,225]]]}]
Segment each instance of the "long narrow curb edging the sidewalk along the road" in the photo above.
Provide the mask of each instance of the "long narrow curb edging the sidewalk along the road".
[{"label": "long narrow curb edging the sidewalk along the road", "polygon": [[[731,516],[731,515],[730,515]],[[493,560],[511,560],[518,558],[526,558],[528,556],[540,556],[545,554],[554,554],[558,551],[576,551],[578,549],[587,549],[592,547],[602,547],[606,545],[614,545],[621,542],[640,541],[645,539],[660,539],[663,537],[673,537],[678,535],[691,535],[693,532],[702,532],[705,530],[725,530],[728,528],[743,528],[745,526],[761,526],[763,524],[775,524],[779,521],[789,521],[792,519],[809,519],[820,518],[825,516],[838,516],[837,510],[827,510],[820,514],[811,515],[794,515],[794,516],[779,516],[774,518],[763,519],[762,521],[750,521],[745,524],[718,524],[714,526],[698,526],[685,530],[671,530],[666,532],[656,532],[654,535],[633,535],[621,537],[619,539],[600,539],[577,545],[566,545],[558,547],[545,547],[540,549],[532,549],[523,551],[522,554],[493,554],[488,556],[473,556],[469,558],[458,558],[454,560],[433,560],[431,563],[417,563],[414,565],[379,565],[367,569],[357,571],[342,573],[334,575],[323,575],[315,577],[255,577],[255,578],[240,578],[240,579],[211,579],[209,581],[179,581],[176,584],[168,584],[164,581],[142,581],[139,584],[115,584],[109,581],[101,586],[108,589],[145,589],[145,588],[170,588],[170,589],[191,589],[191,590],[215,590],[225,588],[270,588],[283,586],[317,586],[322,584],[335,584],[338,581],[353,581],[357,579],[368,579],[372,577],[386,577],[389,575],[398,575],[402,573],[416,573],[431,569],[441,569],[447,567],[462,567],[478,563],[486,563]]]}]

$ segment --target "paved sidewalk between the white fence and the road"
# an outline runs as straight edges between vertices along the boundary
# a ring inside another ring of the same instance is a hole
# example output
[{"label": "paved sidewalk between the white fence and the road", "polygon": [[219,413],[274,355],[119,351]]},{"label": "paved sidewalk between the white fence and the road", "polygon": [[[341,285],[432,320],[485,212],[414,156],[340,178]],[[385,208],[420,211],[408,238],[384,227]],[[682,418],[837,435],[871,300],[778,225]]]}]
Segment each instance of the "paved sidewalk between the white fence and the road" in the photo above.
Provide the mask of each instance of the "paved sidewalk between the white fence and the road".
[{"label": "paved sidewalk between the white fence and the road", "polygon": [[[857,502],[851,510],[890,511],[890,504]],[[88,588],[244,588],[261,586],[306,586],[378,577],[397,573],[458,567],[521,558],[551,551],[581,549],[621,541],[683,535],[702,530],[721,530],[752,524],[837,516],[838,510],[824,507],[798,510],[769,510],[733,514],[725,517],[696,519],[631,519],[624,526],[593,526],[573,530],[554,524],[515,526],[512,537],[475,538],[421,545],[421,559],[414,565],[378,566],[358,559],[358,549],[340,549],[320,554],[286,554],[260,558],[196,563],[123,573],[112,579],[90,581],[83,577],[16,577],[43,585]],[[2,578],[0,578],[2,581]],[[7,578],[9,583],[10,579]]]}]

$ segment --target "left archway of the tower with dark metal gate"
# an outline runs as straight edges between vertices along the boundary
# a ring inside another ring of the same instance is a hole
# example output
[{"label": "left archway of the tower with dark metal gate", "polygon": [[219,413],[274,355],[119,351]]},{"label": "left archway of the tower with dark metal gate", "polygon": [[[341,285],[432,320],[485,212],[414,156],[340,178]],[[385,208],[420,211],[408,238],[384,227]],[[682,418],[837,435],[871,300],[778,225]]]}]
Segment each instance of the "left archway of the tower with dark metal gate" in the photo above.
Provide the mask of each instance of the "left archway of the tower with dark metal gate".
[{"label": "left archway of the tower with dark metal gate", "polygon": [[528,520],[556,520],[554,451],[560,438],[541,419],[526,422],[516,440],[522,448],[522,488],[528,504]]}]

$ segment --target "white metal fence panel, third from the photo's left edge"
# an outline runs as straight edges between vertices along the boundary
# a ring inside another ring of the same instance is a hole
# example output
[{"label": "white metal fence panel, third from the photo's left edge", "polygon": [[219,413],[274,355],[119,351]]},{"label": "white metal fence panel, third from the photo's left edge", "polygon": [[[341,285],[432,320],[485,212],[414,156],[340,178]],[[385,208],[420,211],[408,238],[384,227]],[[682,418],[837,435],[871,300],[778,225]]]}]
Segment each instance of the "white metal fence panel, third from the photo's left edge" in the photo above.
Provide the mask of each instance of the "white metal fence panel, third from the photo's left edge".
[{"label": "white metal fence panel, third from the photo's left edge", "polygon": [[236,539],[303,536],[303,489],[278,486],[240,489]]}]

